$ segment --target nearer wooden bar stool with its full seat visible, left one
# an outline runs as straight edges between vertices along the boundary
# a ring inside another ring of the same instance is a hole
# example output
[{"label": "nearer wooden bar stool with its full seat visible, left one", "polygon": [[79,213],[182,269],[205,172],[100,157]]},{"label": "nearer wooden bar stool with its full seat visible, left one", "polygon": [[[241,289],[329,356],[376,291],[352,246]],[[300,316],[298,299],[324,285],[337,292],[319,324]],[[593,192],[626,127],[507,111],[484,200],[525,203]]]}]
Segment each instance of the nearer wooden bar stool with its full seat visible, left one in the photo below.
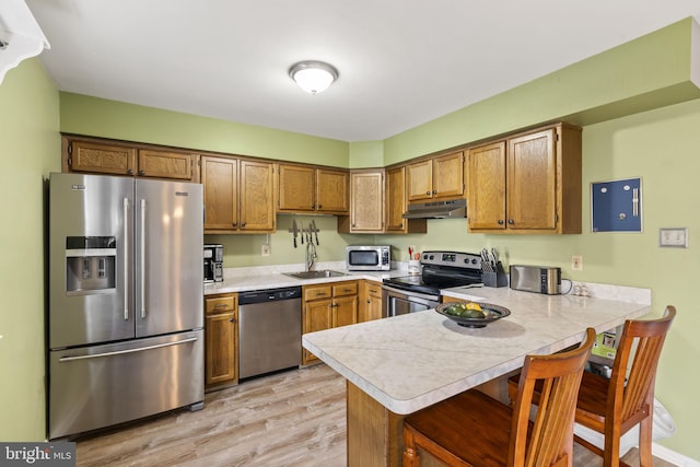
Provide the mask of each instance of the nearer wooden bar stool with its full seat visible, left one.
[{"label": "nearer wooden bar stool with its full seat visible, left one", "polygon": [[[450,466],[571,466],[575,398],[594,340],[588,328],[575,350],[525,357],[514,408],[469,389],[406,417],[404,467],[420,465],[419,448]],[[542,393],[532,423],[536,382]]]}]

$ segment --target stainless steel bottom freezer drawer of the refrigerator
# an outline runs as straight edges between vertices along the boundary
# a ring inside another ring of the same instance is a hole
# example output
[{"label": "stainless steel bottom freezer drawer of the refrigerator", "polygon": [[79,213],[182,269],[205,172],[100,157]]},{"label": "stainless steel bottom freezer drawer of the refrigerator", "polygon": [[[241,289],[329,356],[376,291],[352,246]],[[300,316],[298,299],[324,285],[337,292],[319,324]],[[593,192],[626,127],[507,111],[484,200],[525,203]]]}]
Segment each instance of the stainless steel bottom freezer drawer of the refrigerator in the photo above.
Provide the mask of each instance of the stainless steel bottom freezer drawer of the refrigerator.
[{"label": "stainless steel bottom freezer drawer of the refrigerator", "polygon": [[49,352],[50,440],[205,398],[203,331]]}]

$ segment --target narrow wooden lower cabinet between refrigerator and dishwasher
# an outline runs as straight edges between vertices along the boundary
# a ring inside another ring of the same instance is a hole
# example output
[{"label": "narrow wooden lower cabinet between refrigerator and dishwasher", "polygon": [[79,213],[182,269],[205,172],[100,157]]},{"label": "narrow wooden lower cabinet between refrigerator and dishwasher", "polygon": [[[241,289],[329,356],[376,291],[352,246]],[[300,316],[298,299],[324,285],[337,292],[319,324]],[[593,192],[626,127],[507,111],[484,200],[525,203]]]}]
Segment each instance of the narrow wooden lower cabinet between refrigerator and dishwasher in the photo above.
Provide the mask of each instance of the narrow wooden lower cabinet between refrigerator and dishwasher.
[{"label": "narrow wooden lower cabinet between refrigerator and dishwasher", "polygon": [[205,297],[205,385],[207,389],[238,382],[238,295]]}]

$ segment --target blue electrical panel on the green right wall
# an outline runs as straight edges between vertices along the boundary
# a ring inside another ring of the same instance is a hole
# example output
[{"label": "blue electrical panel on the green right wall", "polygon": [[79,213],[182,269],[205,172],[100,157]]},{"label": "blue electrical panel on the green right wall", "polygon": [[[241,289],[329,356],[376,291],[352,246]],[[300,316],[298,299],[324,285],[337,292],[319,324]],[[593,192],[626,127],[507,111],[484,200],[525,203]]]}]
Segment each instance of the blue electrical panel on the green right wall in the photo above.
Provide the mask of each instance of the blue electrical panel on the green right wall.
[{"label": "blue electrical panel on the green right wall", "polygon": [[591,184],[593,232],[642,231],[642,179]]}]

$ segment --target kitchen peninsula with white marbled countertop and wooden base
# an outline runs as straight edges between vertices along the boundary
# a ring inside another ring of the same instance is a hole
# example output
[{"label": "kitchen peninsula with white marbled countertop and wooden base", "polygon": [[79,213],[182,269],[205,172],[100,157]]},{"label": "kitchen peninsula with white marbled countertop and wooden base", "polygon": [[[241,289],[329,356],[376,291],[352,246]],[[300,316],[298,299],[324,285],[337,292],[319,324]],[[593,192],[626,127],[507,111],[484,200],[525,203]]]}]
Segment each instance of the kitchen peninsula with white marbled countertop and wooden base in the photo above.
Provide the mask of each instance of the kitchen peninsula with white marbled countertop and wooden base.
[{"label": "kitchen peninsula with white marbled countertop and wooden base", "polygon": [[[621,291],[621,292],[620,292]],[[651,312],[651,291],[600,296],[452,289],[444,295],[505,306],[511,315],[466,328],[432,310],[306,334],[302,345],[347,380],[348,465],[398,466],[402,419],[518,369],[526,354],[560,351]]]}]

